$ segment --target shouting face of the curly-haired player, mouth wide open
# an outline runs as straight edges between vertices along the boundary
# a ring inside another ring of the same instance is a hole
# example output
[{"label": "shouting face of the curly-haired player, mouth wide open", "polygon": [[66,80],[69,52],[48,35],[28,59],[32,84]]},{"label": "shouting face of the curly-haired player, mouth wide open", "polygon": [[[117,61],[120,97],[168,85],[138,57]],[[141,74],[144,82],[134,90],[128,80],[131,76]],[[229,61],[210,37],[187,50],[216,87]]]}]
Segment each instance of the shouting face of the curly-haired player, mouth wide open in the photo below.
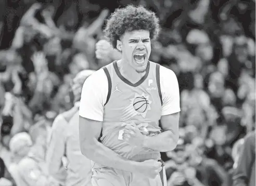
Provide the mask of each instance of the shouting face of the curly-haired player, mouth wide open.
[{"label": "shouting face of the curly-haired player, mouth wide open", "polygon": [[[151,53],[151,41],[149,31],[135,30],[125,32],[117,45],[122,47],[122,59],[136,72],[146,71],[148,59]],[[118,48],[118,47],[117,47]]]}]

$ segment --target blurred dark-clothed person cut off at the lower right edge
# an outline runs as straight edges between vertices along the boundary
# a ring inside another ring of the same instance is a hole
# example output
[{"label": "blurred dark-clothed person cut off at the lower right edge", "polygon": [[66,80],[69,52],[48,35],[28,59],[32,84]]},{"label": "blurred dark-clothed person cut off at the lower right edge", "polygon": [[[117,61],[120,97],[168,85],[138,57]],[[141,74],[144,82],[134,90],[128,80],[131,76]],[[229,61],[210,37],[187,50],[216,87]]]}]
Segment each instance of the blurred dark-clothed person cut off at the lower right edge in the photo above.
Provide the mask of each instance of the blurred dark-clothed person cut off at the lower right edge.
[{"label": "blurred dark-clothed person cut off at the lower right edge", "polygon": [[234,186],[255,185],[255,130],[245,137],[233,181]]}]

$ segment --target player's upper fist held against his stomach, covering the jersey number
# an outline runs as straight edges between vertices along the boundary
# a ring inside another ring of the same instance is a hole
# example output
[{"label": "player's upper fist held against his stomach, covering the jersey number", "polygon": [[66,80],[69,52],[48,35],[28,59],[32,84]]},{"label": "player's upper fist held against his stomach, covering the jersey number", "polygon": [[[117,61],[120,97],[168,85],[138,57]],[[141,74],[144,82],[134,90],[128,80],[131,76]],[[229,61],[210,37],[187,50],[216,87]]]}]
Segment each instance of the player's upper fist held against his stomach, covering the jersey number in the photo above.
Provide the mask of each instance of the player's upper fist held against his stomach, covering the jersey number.
[{"label": "player's upper fist held against his stomach, covering the jersey number", "polygon": [[144,136],[135,123],[127,124],[124,128],[123,140],[135,147],[143,147]]}]

